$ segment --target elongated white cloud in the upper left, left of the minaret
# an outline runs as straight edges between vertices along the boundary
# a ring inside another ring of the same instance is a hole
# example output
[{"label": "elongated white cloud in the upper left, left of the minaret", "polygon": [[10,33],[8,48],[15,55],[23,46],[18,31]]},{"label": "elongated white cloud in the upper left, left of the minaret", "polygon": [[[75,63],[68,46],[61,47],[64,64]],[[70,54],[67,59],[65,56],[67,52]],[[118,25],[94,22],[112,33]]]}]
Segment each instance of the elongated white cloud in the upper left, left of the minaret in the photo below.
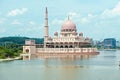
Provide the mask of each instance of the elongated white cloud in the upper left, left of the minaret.
[{"label": "elongated white cloud in the upper left, left of the minaret", "polygon": [[17,15],[22,15],[28,11],[27,8],[21,8],[21,9],[14,9],[8,12],[8,16],[17,16]]}]

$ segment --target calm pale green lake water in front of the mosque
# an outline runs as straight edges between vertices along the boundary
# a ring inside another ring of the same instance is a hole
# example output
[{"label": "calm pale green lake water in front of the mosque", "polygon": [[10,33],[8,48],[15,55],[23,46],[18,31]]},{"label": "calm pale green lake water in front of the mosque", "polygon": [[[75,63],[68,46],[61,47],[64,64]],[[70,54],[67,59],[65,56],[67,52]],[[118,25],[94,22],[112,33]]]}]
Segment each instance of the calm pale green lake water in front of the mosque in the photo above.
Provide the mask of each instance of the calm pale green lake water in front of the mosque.
[{"label": "calm pale green lake water in front of the mosque", "polygon": [[0,80],[120,80],[120,51],[84,59],[36,59],[0,63]]}]

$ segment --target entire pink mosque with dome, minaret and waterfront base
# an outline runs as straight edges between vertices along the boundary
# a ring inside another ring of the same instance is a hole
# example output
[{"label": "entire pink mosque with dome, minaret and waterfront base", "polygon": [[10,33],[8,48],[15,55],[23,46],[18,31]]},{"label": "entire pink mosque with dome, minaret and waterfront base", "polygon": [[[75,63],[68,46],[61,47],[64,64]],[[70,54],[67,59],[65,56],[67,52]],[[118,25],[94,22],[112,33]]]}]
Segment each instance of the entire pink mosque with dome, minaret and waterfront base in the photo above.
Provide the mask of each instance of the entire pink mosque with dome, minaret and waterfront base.
[{"label": "entire pink mosque with dome, minaret and waterfront base", "polygon": [[23,46],[23,59],[37,58],[74,58],[81,55],[98,54],[91,47],[91,39],[77,32],[76,24],[69,19],[64,21],[60,33],[49,35],[48,10],[45,11],[44,44],[35,44],[34,40],[26,40]]}]

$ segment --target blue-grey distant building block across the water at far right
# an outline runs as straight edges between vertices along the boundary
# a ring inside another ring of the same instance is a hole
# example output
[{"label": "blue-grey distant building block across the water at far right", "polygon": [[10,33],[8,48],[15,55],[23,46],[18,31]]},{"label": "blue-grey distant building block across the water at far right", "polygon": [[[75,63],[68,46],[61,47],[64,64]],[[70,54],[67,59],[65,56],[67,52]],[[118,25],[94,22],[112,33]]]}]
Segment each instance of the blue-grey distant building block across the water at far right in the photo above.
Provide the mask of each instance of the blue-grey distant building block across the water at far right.
[{"label": "blue-grey distant building block across the water at far right", "polygon": [[106,38],[103,41],[105,49],[115,49],[116,48],[116,39],[115,38]]}]

